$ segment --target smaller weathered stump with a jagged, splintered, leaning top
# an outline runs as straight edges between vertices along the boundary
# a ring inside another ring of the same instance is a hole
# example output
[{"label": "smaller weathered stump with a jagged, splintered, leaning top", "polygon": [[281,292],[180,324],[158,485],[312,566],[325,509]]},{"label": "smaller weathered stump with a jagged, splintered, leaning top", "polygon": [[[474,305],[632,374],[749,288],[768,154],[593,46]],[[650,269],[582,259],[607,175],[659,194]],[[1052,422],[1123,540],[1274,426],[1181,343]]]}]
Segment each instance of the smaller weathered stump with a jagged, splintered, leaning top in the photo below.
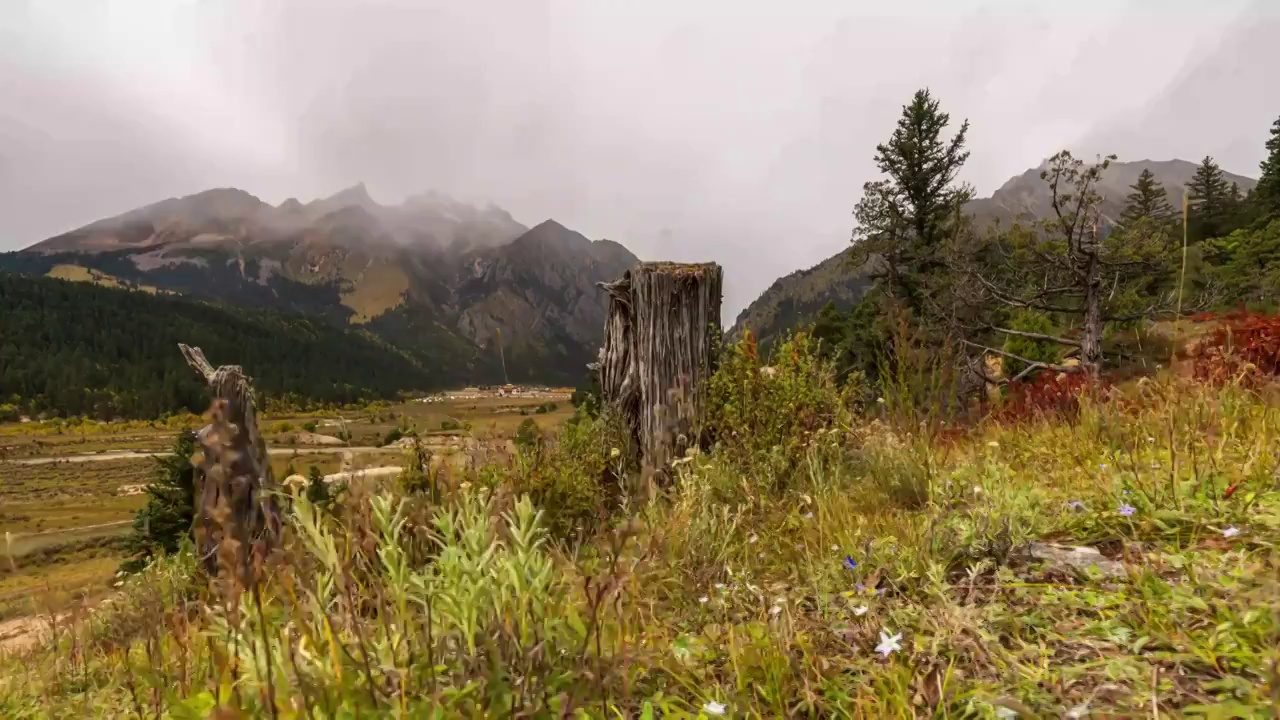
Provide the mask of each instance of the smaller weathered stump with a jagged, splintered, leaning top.
[{"label": "smaller weathered stump with a jagged, splintered, leaning top", "polygon": [[201,450],[196,464],[196,551],[210,575],[227,566],[243,582],[252,550],[274,547],[280,530],[253,388],[239,365],[215,369],[198,347],[178,347],[214,396],[211,421],[196,434]]}]

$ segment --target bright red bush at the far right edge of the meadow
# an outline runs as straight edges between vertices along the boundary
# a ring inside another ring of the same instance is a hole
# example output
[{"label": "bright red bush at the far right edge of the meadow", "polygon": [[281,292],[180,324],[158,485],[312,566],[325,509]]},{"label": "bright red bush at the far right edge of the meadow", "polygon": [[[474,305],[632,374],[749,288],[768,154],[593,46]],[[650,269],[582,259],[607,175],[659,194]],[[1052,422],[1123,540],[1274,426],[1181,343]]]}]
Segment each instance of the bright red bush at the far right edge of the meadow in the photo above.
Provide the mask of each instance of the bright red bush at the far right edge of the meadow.
[{"label": "bright red bush at the far right edge of the meadow", "polygon": [[1280,315],[1239,310],[1188,350],[1196,379],[1258,384],[1280,375]]}]

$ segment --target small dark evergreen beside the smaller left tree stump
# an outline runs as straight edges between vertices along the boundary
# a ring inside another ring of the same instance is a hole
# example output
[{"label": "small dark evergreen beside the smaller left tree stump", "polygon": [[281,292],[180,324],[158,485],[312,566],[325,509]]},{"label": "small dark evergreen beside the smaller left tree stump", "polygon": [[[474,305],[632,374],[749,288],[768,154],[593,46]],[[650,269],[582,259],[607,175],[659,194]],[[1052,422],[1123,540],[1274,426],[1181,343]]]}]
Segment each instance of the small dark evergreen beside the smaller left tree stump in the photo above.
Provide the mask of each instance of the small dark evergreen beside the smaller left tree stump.
[{"label": "small dark evergreen beside the smaller left tree stump", "polygon": [[133,516],[132,534],[125,539],[128,560],[120,566],[136,573],[156,555],[178,551],[183,538],[191,537],[196,512],[196,436],[178,433],[173,455],[156,457],[156,468],[147,486],[147,503]]}]

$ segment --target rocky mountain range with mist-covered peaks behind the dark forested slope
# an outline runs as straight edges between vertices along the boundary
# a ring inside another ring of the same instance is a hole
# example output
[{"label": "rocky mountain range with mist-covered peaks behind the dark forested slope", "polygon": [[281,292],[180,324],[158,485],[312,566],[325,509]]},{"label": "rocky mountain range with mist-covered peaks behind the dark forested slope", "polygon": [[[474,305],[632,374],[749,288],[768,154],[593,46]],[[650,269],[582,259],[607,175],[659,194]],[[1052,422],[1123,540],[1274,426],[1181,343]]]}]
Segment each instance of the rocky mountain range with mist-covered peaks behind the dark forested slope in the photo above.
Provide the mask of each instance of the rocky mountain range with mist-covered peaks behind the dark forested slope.
[{"label": "rocky mountain range with mist-covered peaks behind the dark forested slope", "polygon": [[161,200],[0,255],[0,270],[321,318],[443,387],[576,383],[603,338],[595,283],[637,261],[554,220],[527,228],[440,193],[381,205],[356,184],[307,204],[237,188]]}]

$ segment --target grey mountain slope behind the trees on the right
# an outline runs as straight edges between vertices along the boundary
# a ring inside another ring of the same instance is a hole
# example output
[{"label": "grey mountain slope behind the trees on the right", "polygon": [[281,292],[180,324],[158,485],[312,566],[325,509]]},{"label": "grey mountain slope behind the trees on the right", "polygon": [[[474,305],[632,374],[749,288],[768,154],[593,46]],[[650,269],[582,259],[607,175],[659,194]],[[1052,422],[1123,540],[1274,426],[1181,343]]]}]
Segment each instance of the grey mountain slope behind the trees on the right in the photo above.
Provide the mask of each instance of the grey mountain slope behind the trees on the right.
[{"label": "grey mountain slope behind the trees on the right", "polygon": [[[970,200],[966,210],[979,227],[993,222],[1004,224],[1020,218],[1048,218],[1052,214],[1052,195],[1039,173],[1046,167],[1030,168],[1010,178],[991,197]],[[1102,193],[1103,224],[1114,223],[1124,210],[1132,186],[1142,170],[1147,169],[1164,184],[1169,204],[1181,208],[1183,192],[1196,174],[1196,163],[1187,160],[1137,160],[1112,163],[1102,174],[1097,190]],[[1224,173],[1242,192],[1252,190],[1257,181],[1244,176]],[[787,331],[805,322],[827,302],[845,310],[870,287],[867,273],[852,264],[852,250],[845,249],[806,269],[778,278],[739,315],[730,337],[740,337],[750,329],[759,342],[768,345]]]}]

